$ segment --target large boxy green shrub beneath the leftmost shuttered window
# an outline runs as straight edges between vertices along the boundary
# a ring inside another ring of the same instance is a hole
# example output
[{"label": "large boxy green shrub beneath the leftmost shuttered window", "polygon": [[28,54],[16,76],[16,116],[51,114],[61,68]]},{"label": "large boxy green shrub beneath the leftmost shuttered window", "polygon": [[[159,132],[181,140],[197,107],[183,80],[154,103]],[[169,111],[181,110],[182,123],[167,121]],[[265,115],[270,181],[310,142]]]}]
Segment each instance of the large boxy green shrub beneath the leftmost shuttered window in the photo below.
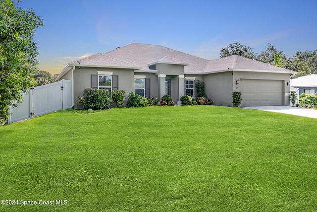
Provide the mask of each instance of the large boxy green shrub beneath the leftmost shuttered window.
[{"label": "large boxy green shrub beneath the leftmost shuttered window", "polygon": [[84,91],[84,108],[107,109],[110,104],[110,97],[111,93],[108,89],[87,88]]}]

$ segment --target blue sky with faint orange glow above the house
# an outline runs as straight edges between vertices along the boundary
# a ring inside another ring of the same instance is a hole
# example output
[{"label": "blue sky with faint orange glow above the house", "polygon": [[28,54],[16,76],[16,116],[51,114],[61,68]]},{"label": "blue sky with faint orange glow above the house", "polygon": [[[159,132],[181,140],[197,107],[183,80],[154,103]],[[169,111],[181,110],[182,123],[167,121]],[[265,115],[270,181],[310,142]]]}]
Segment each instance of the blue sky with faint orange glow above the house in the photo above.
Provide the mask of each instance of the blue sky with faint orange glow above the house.
[{"label": "blue sky with faint orange glow above the house", "polygon": [[261,53],[268,43],[292,57],[317,49],[317,0],[22,0],[44,19],[33,40],[38,68],[129,43],[162,45],[208,60],[234,42]]}]

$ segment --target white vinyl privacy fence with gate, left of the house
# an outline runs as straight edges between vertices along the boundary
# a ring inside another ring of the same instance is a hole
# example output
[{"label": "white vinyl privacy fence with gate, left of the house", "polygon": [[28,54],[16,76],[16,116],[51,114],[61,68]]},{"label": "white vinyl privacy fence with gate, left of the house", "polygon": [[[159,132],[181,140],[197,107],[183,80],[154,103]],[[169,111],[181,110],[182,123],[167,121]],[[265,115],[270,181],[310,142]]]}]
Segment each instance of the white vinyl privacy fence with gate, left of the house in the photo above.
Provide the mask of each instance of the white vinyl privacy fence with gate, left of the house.
[{"label": "white vinyl privacy fence with gate, left of the house", "polygon": [[[72,107],[71,80],[61,80],[47,85],[30,87],[22,93],[22,103],[10,106],[8,124]],[[16,103],[16,102],[15,102]]]}]

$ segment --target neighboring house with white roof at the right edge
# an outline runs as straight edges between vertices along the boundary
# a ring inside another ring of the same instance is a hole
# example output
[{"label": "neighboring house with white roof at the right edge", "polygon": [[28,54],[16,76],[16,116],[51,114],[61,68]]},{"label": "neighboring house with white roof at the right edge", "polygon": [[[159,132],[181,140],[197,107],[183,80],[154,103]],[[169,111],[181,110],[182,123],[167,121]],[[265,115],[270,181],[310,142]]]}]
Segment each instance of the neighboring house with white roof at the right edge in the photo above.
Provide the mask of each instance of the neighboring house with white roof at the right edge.
[{"label": "neighboring house with white roof at the right edge", "polygon": [[310,74],[291,79],[291,87],[299,88],[299,94],[317,92],[317,74]]}]

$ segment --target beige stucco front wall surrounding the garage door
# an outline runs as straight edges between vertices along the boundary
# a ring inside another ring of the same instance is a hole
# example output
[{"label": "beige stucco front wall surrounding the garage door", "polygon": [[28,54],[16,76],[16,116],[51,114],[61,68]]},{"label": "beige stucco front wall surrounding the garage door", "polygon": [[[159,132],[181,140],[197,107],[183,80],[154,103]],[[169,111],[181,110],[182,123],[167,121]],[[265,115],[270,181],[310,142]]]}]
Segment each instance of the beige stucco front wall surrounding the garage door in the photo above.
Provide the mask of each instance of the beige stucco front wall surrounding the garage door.
[{"label": "beige stucco front wall surrounding the garage door", "polygon": [[[290,86],[287,85],[287,82],[290,80],[289,73],[267,73],[267,72],[252,72],[252,71],[233,71],[233,92],[240,92],[239,84],[236,84],[237,79],[266,79],[266,80],[281,80],[282,81],[282,104],[289,105],[289,93]],[[269,87],[269,83],[267,87]]]}]

